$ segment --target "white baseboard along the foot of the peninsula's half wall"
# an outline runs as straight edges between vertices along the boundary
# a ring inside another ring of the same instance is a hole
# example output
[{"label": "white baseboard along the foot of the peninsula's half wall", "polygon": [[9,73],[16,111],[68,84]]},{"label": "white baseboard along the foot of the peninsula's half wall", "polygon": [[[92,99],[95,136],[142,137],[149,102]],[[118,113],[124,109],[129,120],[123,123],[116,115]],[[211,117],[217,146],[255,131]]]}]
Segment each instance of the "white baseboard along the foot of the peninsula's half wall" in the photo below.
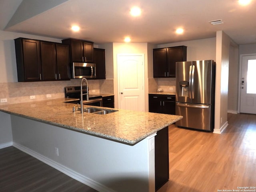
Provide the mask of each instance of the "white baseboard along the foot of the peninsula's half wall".
[{"label": "white baseboard along the foot of the peninsula's half wall", "polygon": [[55,162],[55,161],[35,152],[33,150],[30,150],[29,148],[26,148],[26,147],[16,143],[16,142],[13,142],[13,146],[31,156],[33,156],[34,158],[44,162],[45,164],[48,164],[49,166],[59,170],[60,172],[70,176],[71,178],[73,178],[83,184],[86,184],[87,186],[89,186],[91,188],[94,188],[97,191],[114,192],[112,189],[110,189],[98,182],[95,182],[95,181],[87,178],[86,176],[83,176],[82,174],[75,172],[74,170],[71,170],[70,168],[63,166],[62,164],[59,164],[58,162]]}]

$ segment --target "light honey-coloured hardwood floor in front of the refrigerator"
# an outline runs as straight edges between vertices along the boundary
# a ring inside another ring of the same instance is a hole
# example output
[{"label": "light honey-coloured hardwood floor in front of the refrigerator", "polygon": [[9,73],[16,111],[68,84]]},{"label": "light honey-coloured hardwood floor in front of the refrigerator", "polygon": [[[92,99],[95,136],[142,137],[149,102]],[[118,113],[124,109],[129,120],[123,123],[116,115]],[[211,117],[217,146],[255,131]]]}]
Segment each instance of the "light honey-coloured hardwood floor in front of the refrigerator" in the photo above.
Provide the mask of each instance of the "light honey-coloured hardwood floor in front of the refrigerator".
[{"label": "light honey-coloured hardwood floor in front of the refrigerator", "polygon": [[170,126],[170,180],[158,192],[255,187],[256,115],[228,114],[228,124],[222,134]]}]

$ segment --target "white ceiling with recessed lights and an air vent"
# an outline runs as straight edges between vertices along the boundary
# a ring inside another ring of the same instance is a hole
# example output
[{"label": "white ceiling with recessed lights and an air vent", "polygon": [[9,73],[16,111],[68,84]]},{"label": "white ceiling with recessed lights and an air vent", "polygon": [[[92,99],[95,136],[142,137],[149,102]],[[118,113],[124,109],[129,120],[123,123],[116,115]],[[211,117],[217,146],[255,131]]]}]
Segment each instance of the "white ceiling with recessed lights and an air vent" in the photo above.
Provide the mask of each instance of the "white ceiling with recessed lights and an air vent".
[{"label": "white ceiling with recessed lights and an air vent", "polygon": [[[130,16],[132,6],[141,7],[140,17]],[[250,44],[256,43],[255,8],[256,0],[249,6],[237,0],[0,0],[0,27],[96,44],[123,42],[125,36],[132,42],[164,44],[212,38],[223,30],[237,44]],[[218,19],[224,24],[209,23]],[[80,32],[72,32],[72,24]],[[175,34],[178,27],[184,34]]]}]

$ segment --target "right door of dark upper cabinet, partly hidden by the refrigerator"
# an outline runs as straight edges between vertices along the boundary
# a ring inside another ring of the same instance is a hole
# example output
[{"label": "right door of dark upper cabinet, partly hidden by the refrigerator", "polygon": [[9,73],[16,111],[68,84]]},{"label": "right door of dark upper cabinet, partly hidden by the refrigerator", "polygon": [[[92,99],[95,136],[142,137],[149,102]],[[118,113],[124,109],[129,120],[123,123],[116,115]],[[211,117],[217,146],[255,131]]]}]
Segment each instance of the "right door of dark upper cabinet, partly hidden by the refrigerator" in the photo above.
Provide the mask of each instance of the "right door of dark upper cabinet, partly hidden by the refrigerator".
[{"label": "right door of dark upper cabinet, partly hidden by the refrigerator", "polygon": [[177,46],[167,48],[167,68],[168,77],[175,78],[176,76],[176,62],[186,61],[186,46]]}]

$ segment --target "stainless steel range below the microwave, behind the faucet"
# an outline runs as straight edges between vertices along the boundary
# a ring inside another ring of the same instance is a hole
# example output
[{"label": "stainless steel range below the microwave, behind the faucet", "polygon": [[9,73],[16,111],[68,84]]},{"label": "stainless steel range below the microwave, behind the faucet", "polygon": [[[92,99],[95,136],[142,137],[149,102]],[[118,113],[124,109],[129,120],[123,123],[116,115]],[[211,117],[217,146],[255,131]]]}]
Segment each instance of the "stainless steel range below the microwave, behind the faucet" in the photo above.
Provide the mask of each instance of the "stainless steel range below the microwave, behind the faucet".
[{"label": "stainless steel range below the microwave, behind the faucet", "polygon": [[[68,103],[80,104],[80,94],[81,86],[69,86],[65,87],[65,97],[74,98],[72,101],[66,101]],[[83,94],[86,93],[86,86],[82,86]],[[102,106],[102,96],[90,95],[89,100],[87,100],[87,95],[83,95],[83,104],[93,105],[93,106]]]}]

